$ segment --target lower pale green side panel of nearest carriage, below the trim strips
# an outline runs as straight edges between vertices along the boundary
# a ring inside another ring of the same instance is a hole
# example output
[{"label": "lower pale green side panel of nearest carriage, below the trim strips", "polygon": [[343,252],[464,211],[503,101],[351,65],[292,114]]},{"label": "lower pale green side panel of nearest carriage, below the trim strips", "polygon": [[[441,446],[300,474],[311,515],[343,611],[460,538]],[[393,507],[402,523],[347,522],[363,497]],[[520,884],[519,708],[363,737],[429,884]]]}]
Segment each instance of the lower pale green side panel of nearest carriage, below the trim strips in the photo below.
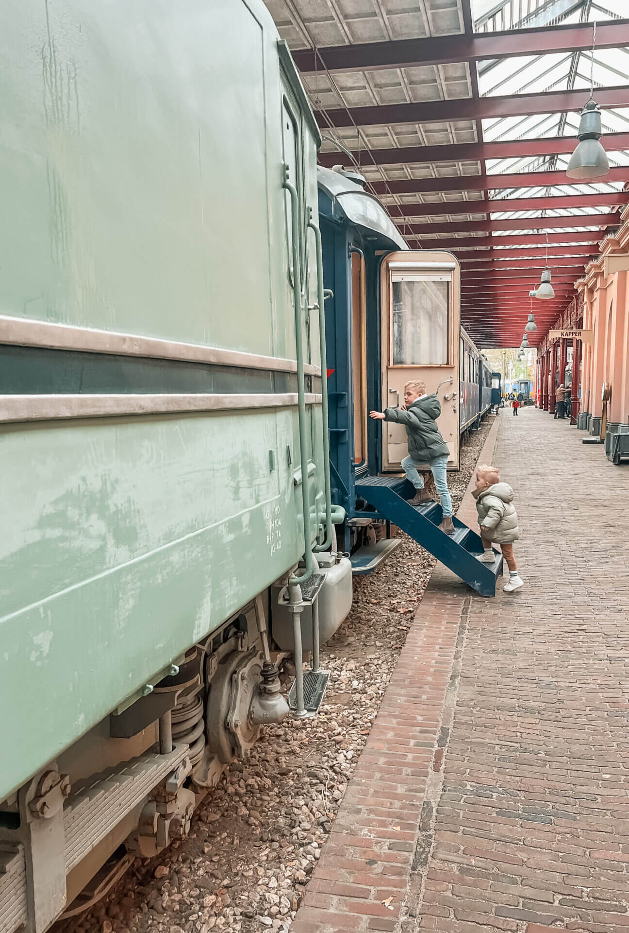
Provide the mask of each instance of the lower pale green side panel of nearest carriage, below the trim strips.
[{"label": "lower pale green side panel of nearest carriage, below the trim strips", "polygon": [[4,432],[0,683],[15,706],[0,799],[298,559],[294,467],[268,454],[295,418]]}]

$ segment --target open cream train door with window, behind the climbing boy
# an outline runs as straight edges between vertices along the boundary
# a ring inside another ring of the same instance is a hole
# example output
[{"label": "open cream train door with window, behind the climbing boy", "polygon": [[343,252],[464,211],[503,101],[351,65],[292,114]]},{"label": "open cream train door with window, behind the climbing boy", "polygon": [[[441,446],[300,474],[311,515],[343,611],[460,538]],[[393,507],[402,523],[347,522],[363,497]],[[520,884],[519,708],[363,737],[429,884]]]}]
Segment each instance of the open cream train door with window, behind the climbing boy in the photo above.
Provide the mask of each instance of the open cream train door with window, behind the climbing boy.
[{"label": "open cream train door with window, behind the climbing boy", "polygon": [[[404,383],[437,393],[437,425],[458,469],[458,347],[460,270],[449,253],[390,253],[381,267],[382,403],[403,404]],[[452,380],[452,383],[450,383]],[[399,471],[406,456],[403,425],[383,422],[382,463]]]}]

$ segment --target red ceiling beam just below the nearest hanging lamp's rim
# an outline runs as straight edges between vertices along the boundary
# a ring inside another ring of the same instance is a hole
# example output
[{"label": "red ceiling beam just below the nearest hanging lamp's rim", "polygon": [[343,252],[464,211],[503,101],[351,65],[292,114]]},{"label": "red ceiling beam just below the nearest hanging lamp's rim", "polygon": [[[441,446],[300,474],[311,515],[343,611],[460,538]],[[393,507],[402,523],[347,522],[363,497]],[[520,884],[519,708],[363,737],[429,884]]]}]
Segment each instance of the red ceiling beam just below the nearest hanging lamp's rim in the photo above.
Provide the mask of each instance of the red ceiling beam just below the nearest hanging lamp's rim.
[{"label": "red ceiling beam just below the nearest hanging lamp's rim", "polygon": [[417,204],[386,204],[391,217],[425,217],[452,214],[502,214],[507,211],[572,210],[577,207],[623,207],[629,191],[604,194],[568,194],[542,198],[502,198],[493,201],[439,201]]}]

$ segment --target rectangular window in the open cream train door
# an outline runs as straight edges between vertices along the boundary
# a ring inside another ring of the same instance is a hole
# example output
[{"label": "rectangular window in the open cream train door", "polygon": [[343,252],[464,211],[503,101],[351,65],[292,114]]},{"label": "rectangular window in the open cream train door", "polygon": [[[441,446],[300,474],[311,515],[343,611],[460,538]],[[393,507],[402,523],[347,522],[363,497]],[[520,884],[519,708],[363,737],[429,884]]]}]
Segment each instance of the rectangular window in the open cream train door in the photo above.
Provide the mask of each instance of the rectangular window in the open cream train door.
[{"label": "rectangular window in the open cream train door", "polygon": [[452,278],[391,273],[390,366],[450,362]]}]

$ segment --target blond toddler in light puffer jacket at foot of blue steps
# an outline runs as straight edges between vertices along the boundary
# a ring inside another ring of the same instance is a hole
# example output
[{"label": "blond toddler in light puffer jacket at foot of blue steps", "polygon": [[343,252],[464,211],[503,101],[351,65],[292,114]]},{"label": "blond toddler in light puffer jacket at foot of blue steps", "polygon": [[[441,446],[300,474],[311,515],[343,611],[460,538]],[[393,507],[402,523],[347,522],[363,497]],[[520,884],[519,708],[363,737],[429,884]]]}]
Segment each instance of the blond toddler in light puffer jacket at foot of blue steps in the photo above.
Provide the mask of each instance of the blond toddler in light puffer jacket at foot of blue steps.
[{"label": "blond toddler in light puffer jacket at foot of blue steps", "polygon": [[496,555],[492,542],[499,544],[502,556],[509,567],[509,579],[504,585],[505,592],[513,592],[524,586],[513,557],[513,541],[520,536],[517,525],[517,512],[513,506],[513,489],[506,482],[500,482],[496,466],[483,464],[476,470],[476,488],[472,492],[476,500],[478,523],[481,526],[484,553],[480,560],[493,564]]}]

